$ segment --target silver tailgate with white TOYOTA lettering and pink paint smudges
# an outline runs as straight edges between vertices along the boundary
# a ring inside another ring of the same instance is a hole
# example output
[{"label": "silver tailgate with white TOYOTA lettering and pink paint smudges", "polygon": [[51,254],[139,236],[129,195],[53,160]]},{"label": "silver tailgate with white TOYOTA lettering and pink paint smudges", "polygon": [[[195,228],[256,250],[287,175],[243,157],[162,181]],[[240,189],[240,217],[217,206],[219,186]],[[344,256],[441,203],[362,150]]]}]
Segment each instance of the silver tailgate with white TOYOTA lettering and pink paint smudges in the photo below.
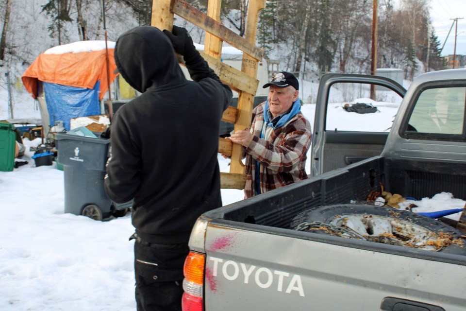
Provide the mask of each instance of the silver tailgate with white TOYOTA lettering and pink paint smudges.
[{"label": "silver tailgate with white TOYOTA lettering and pink paint smudges", "polygon": [[272,234],[269,227],[257,227],[250,231],[208,226],[205,310],[375,311],[383,301],[383,310],[405,310],[399,309],[403,299],[418,303],[418,309],[409,310],[465,310],[464,262],[426,259],[430,254],[424,259],[406,257],[355,248],[361,242],[351,241],[353,247],[338,242],[348,239],[318,241],[321,235],[303,240],[287,236],[291,230]]}]

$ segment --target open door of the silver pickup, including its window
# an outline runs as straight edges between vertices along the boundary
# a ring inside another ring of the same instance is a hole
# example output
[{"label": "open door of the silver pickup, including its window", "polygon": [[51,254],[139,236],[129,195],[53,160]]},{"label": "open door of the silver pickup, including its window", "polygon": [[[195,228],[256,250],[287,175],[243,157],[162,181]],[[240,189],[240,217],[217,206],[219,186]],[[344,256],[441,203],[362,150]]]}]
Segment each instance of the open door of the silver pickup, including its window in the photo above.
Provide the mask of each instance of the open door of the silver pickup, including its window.
[{"label": "open door of the silver pickup, including its window", "polygon": [[385,77],[324,74],[317,94],[311,175],[380,155],[405,93]]}]

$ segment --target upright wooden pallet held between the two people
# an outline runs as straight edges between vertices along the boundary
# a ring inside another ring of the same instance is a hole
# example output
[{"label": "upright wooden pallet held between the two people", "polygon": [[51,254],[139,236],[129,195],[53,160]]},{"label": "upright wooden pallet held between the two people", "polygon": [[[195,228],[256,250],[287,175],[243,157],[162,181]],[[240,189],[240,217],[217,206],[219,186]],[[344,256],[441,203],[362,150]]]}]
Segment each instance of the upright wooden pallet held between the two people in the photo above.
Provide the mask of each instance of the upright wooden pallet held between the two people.
[{"label": "upright wooden pallet held between the two people", "polygon": [[[220,23],[221,0],[209,0],[207,14],[200,12],[184,0],[152,0],[151,25],[161,30],[173,28],[173,16],[179,17],[200,27],[206,32],[202,57],[214,69],[220,80],[238,92],[237,108],[230,106],[224,113],[222,121],[234,124],[234,130],[249,129],[251,125],[254,95],[259,81],[257,66],[264,56],[264,50],[256,45],[259,11],[266,5],[266,0],[249,1],[248,19],[245,38]],[[223,41],[243,51],[241,70],[234,69],[220,61]],[[183,58],[178,57],[183,64]],[[219,138],[218,151],[231,156],[230,173],[220,173],[221,188],[244,189],[246,183],[243,164],[243,147],[228,139]]]}]

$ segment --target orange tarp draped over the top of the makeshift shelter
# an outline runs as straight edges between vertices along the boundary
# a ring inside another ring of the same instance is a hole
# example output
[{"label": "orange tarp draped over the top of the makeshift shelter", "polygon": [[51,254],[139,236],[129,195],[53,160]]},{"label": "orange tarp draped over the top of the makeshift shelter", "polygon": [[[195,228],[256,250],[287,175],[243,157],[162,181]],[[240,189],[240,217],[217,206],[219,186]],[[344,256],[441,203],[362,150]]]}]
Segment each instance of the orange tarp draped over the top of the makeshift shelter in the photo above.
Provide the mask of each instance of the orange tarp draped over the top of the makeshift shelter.
[{"label": "orange tarp draped over the top of the makeshift shelter", "polygon": [[[114,49],[108,49],[110,83],[118,75],[113,73],[116,69],[113,52]],[[37,98],[37,80],[83,88],[93,88],[100,80],[99,100],[102,100],[108,89],[105,50],[64,54],[41,53],[21,78],[33,98]]]}]

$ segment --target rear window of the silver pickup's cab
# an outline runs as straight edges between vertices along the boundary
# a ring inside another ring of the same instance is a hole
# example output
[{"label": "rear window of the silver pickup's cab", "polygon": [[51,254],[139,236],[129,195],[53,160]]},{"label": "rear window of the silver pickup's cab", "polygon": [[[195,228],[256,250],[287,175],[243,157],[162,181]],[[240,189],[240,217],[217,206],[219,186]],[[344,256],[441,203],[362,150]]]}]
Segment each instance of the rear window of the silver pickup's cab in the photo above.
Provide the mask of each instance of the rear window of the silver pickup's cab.
[{"label": "rear window of the silver pickup's cab", "polygon": [[463,134],[465,103],[466,87],[426,89],[417,99],[407,132]]}]

